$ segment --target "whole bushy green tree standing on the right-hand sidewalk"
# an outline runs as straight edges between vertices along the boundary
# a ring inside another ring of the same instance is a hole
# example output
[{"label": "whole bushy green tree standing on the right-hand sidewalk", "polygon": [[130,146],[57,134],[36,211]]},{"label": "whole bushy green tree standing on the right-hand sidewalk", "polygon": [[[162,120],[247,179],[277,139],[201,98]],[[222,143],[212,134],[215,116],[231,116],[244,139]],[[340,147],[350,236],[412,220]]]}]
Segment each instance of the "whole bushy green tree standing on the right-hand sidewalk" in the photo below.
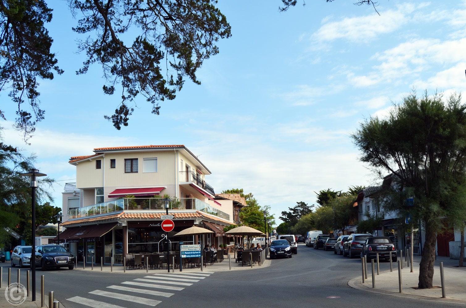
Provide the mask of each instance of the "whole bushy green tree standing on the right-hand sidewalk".
[{"label": "whole bushy green tree standing on the right-hand sidewalk", "polygon": [[[388,210],[425,227],[419,288],[432,288],[437,232],[466,220],[466,106],[459,95],[412,92],[386,118],[370,117],[351,135],[360,160],[390,172]],[[414,198],[407,206],[406,199]],[[442,220],[446,217],[446,222]]]}]

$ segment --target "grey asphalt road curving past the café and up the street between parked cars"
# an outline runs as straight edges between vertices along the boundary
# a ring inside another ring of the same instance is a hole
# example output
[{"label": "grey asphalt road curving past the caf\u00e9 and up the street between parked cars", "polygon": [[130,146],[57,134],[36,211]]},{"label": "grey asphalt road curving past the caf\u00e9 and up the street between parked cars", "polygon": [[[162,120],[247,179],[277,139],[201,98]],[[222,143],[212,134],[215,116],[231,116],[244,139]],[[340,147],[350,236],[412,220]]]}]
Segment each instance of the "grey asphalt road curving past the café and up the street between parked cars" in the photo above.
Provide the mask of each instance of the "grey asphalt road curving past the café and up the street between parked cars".
[{"label": "grey asphalt road curving past the caf\u00e9 and up the street between parked cars", "polygon": [[[3,273],[6,279],[8,263],[1,263],[1,265],[4,267]],[[390,262],[381,262],[380,269],[390,269]],[[206,270],[208,271],[209,268],[207,267]],[[16,279],[16,271],[17,268],[12,270],[14,279]],[[149,271],[150,276],[154,273],[166,274],[164,271]],[[37,289],[39,291],[40,275],[42,273],[38,269]],[[333,251],[308,248],[302,243],[298,245],[297,255],[293,255],[291,259],[272,260],[269,267],[217,272],[212,275],[199,276],[198,279],[195,279],[196,277],[172,278],[171,282],[182,284],[161,282],[159,285],[164,286],[165,289],[145,285],[135,286],[135,282],[154,284],[152,280],[157,280],[157,278],[168,281],[167,277],[163,276],[146,278],[145,273],[123,275],[61,269],[47,271],[45,275],[46,292],[55,291],[55,298],[66,308],[134,308],[135,306],[150,307],[155,304],[157,308],[464,307],[460,304],[379,295],[350,288],[347,285],[349,279],[361,275],[360,259],[349,259],[334,255]],[[183,274],[178,273],[178,275]],[[135,279],[145,279],[150,282]],[[187,281],[182,281],[182,279]],[[109,288],[109,286],[116,287]],[[134,290],[125,288],[134,288]],[[139,302],[127,301],[130,299],[129,296],[137,296],[135,299]],[[337,296],[337,298],[329,298],[329,296]],[[74,301],[70,301],[73,298]],[[91,300],[89,306],[82,304],[84,300]]]}]

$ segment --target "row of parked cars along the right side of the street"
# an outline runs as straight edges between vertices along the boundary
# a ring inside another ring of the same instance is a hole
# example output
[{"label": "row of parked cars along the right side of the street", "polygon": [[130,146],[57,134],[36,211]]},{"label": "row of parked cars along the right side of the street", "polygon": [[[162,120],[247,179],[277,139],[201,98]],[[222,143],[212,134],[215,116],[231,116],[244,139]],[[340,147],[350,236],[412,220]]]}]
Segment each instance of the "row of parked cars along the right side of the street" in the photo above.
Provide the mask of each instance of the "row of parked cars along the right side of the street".
[{"label": "row of parked cars along the right side of the street", "polygon": [[334,254],[349,256],[349,258],[366,256],[367,262],[377,257],[380,259],[397,262],[397,250],[395,244],[388,236],[372,236],[367,233],[351,233],[341,235],[337,239],[330,235],[322,234],[322,231],[309,231],[305,236],[305,243],[314,249],[333,250]]}]

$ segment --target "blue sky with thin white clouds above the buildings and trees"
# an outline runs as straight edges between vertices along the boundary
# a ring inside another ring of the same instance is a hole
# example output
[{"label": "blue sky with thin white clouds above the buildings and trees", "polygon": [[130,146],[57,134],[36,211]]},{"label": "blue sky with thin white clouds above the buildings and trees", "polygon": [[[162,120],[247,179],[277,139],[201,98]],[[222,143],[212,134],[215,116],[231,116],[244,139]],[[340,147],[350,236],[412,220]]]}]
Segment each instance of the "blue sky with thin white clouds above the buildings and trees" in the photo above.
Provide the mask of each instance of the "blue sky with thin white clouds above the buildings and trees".
[{"label": "blue sky with thin white clouds above the buildings and trees", "polygon": [[279,13],[279,0],[220,0],[233,35],[199,69],[202,84],[186,81],[175,100],[161,102],[159,116],[139,98],[130,125],[117,131],[103,115],[118,107],[118,95],[103,94],[98,66],[75,74],[84,59],[75,53],[76,20],[66,1],[49,2],[52,50],[65,73],[41,82],[46,118],[31,145],[11,129],[5,93],[0,125],[6,143],[36,153],[36,167],[61,181],[57,206],[75,179],[71,156],[185,144],[212,171],[206,181],[216,192],[243,188],[278,218],[296,202],[314,204],[314,191],[377,184],[349,138],[364,118],[384,116],[412,88],[465,89],[464,1],[381,0],[379,16],[353,1],[306,1]]}]

